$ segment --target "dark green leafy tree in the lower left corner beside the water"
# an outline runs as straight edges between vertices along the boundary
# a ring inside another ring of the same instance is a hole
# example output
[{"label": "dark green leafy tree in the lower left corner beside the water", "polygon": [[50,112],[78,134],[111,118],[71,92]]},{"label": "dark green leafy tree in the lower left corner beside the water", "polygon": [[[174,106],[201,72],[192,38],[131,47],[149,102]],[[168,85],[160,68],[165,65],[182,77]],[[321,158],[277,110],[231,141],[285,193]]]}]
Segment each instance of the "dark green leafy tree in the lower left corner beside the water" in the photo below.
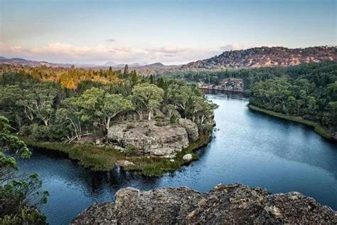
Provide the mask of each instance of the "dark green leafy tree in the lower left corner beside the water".
[{"label": "dark green leafy tree in the lower left corner beside the water", "polygon": [[36,174],[15,179],[14,157],[28,158],[31,152],[9,129],[9,120],[0,116],[0,224],[44,224],[46,217],[35,209],[46,203],[48,192],[39,192],[41,181]]}]

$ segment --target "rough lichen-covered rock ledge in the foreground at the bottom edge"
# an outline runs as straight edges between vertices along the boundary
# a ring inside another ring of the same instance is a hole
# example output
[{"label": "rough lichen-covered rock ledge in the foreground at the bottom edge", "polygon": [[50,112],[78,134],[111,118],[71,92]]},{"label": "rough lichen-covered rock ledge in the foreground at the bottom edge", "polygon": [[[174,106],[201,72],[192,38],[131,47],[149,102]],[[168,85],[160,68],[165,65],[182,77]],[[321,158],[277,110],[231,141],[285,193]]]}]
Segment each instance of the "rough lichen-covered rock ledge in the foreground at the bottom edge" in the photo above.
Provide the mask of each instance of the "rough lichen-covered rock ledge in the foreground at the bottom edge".
[{"label": "rough lichen-covered rock ledge in the foreground at the bottom edge", "polygon": [[337,224],[337,212],[298,192],[219,184],[207,194],[187,187],[120,189],[116,202],[94,204],[72,224]]}]

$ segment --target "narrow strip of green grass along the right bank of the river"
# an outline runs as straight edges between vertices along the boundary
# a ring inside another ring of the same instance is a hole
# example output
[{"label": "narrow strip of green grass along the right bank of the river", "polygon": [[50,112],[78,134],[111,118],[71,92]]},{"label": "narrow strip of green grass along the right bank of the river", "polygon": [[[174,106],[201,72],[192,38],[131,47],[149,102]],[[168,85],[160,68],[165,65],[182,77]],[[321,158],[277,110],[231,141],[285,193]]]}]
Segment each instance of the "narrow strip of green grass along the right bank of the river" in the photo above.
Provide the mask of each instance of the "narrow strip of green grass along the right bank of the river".
[{"label": "narrow strip of green grass along the right bank of the river", "polygon": [[286,114],[279,113],[279,112],[264,110],[262,108],[259,108],[255,105],[251,105],[251,104],[247,105],[247,107],[250,108],[250,110],[255,110],[257,112],[263,112],[267,115],[279,117],[279,118],[282,118],[284,120],[290,120],[290,121],[294,121],[294,122],[299,122],[299,123],[304,124],[304,125],[308,125],[309,127],[312,127],[314,129],[314,131],[316,133],[318,133],[319,135],[321,135],[322,137],[325,137],[326,139],[331,140],[330,132],[328,132],[328,130],[325,127],[323,127],[322,125],[320,125],[318,122],[314,122],[314,121],[310,121],[310,120],[304,120],[301,117],[286,115]]}]

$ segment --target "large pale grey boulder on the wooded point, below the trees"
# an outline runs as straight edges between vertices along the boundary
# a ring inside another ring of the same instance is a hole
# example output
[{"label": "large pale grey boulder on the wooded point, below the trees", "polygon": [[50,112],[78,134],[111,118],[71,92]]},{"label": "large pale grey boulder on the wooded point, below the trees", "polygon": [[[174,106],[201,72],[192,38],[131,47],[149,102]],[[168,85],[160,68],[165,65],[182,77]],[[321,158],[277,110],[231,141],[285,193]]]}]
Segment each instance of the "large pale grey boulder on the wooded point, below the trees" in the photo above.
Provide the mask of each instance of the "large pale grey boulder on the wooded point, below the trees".
[{"label": "large pale grey boulder on the wooded point, below the trees", "polygon": [[113,125],[107,138],[119,147],[132,145],[142,155],[173,156],[189,144],[182,125],[157,126],[154,121]]}]

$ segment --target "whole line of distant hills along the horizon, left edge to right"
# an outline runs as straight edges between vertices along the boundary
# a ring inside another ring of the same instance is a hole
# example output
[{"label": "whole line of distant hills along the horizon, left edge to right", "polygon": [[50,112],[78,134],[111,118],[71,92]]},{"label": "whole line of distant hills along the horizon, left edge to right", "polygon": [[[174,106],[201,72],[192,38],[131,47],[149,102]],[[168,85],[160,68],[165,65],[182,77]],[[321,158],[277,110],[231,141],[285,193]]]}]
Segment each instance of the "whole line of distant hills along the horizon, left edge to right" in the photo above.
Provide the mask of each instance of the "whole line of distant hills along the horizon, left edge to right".
[{"label": "whole line of distant hills along the horizon, left edge to right", "polygon": [[[301,63],[315,63],[321,61],[337,61],[336,46],[309,47],[309,48],[284,48],[284,47],[259,47],[245,50],[225,51],[218,56],[200,61],[187,63],[182,66],[166,66],[163,63],[128,64],[129,68],[151,74],[164,70],[224,70],[228,68],[260,68],[271,66],[294,66]],[[23,66],[50,66],[70,68],[109,68],[123,69],[125,64],[108,61],[103,65],[70,63],[48,63],[46,61],[31,61],[23,58],[4,58],[0,56],[0,64]]]}]

